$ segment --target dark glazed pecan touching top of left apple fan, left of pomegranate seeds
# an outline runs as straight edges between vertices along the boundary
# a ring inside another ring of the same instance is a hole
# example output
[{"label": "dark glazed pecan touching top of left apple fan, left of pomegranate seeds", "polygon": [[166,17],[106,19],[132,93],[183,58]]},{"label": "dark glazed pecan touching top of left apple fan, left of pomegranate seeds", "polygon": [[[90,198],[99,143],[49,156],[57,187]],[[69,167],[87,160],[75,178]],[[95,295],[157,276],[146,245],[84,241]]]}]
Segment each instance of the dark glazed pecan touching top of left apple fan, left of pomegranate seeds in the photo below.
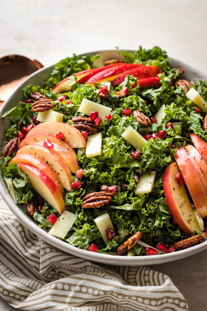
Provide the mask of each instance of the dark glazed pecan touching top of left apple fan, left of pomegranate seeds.
[{"label": "dark glazed pecan touching top of left apple fan, left of pomegranate seeds", "polygon": [[88,135],[97,134],[100,130],[99,126],[95,125],[93,121],[88,117],[77,116],[72,118],[75,123],[73,126],[77,128],[80,132],[86,131]]}]

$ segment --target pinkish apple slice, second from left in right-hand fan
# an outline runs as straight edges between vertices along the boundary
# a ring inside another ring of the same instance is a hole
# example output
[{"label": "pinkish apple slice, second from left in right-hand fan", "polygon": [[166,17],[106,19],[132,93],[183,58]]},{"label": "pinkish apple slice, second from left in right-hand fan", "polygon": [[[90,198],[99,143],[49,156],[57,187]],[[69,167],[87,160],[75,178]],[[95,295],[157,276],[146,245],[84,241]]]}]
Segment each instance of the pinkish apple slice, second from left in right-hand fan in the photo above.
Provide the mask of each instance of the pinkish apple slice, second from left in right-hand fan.
[{"label": "pinkish apple slice, second from left in right-hand fan", "polygon": [[198,174],[194,170],[191,160],[183,147],[177,149],[174,158],[179,166],[195,207],[203,219],[207,216],[207,197]]}]

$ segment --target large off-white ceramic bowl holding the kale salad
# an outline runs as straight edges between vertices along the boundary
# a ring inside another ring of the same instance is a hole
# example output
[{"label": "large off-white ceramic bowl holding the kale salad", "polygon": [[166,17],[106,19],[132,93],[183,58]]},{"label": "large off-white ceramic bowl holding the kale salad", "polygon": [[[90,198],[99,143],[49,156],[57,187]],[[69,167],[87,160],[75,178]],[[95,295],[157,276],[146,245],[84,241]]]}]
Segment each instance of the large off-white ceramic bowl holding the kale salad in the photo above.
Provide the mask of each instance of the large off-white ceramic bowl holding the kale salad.
[{"label": "large off-white ceramic bowl holding the kale salad", "polygon": [[[129,51],[130,52],[130,51]],[[134,51],[131,51],[134,52]],[[91,53],[87,53],[87,55],[100,54],[101,59],[97,60],[95,65],[97,67],[103,66],[103,62],[108,59],[113,58],[121,58],[117,55],[115,50],[106,50],[106,51],[95,51]],[[85,55],[85,54],[82,54]],[[185,64],[180,61],[177,61],[173,58],[169,59],[170,66],[173,68],[183,68],[185,70],[185,75],[188,80],[198,81],[199,79],[207,80],[207,74]],[[46,81],[50,75],[53,66],[45,67],[37,72],[34,72],[28,78],[26,78],[16,89],[16,91],[11,95],[11,97],[5,101],[1,110],[0,116],[7,110],[16,106],[20,100],[23,100],[23,92],[22,88],[26,85],[41,85],[44,81]],[[0,119],[0,144],[4,142],[3,132],[5,128],[8,128],[9,123],[6,120]],[[178,260],[181,258],[185,258],[187,256],[198,253],[205,248],[207,248],[207,241],[195,245],[191,248],[187,248],[178,252],[163,254],[163,255],[154,255],[154,256],[135,256],[135,257],[127,257],[127,256],[113,256],[106,255],[100,253],[88,252],[81,248],[76,248],[66,242],[63,242],[54,236],[48,234],[46,231],[38,227],[38,224],[34,222],[31,216],[24,213],[21,207],[18,207],[13,199],[11,198],[6,184],[4,183],[2,177],[0,176],[0,194],[2,195],[4,201],[7,203],[11,211],[16,215],[16,217],[21,221],[23,225],[25,225],[29,230],[31,230],[34,234],[38,235],[41,239],[51,244],[52,246],[59,248],[61,251],[66,253],[75,255],[80,258],[84,258],[87,260],[105,263],[110,265],[123,265],[123,266],[142,266],[142,265],[152,265],[152,264],[160,264],[165,262],[170,262],[174,260]]]}]

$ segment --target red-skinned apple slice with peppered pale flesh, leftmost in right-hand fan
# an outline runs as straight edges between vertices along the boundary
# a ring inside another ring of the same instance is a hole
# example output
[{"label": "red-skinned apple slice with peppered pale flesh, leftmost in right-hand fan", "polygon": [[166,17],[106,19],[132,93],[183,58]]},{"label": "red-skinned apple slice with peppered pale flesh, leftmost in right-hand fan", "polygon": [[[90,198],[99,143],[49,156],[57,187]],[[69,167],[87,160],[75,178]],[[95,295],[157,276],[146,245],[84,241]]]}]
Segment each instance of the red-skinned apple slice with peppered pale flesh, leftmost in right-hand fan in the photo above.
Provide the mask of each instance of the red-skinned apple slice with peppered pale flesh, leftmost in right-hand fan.
[{"label": "red-skinned apple slice with peppered pale flesh, leftmost in right-hand fan", "polygon": [[193,213],[192,205],[187,197],[185,187],[179,185],[178,181],[174,179],[174,175],[178,172],[178,166],[175,162],[165,169],[163,174],[164,196],[170,213],[177,225],[186,234],[192,235],[193,231],[199,231],[199,226]]}]

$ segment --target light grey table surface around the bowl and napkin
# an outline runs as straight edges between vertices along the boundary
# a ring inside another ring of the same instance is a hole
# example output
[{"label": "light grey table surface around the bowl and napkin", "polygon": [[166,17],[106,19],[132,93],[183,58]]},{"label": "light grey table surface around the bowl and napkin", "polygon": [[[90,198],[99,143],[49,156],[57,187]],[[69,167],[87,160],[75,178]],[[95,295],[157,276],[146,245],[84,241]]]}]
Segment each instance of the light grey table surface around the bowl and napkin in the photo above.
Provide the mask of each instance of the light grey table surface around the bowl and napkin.
[{"label": "light grey table surface around the bowl and napkin", "polygon": [[[1,1],[0,56],[20,54],[45,66],[73,53],[159,45],[207,72],[206,0]],[[190,311],[207,309],[207,250],[151,269],[170,276]],[[0,298],[0,311],[15,310]]]}]

